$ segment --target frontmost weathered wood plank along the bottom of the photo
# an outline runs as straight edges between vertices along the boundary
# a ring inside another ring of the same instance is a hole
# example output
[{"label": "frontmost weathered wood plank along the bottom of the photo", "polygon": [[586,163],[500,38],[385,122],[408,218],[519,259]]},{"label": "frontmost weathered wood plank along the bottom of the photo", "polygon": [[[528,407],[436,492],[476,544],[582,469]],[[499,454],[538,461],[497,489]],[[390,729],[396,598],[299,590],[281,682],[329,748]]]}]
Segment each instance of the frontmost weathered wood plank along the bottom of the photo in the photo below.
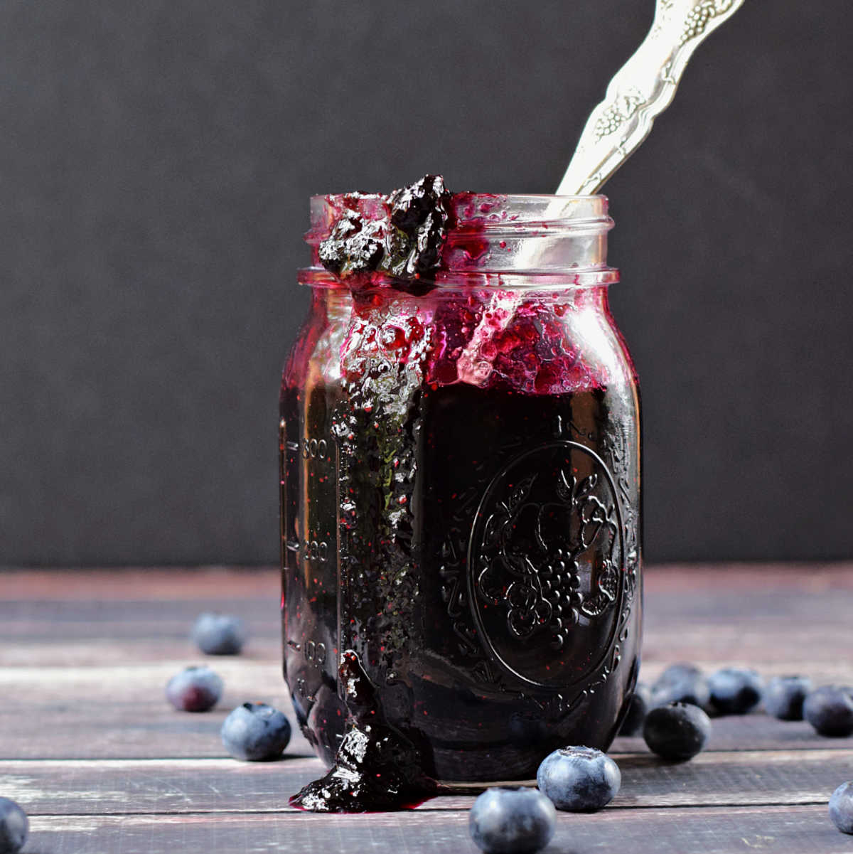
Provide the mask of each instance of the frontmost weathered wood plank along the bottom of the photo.
[{"label": "frontmost weathered wood plank along the bottom of the photo", "polygon": [[[560,814],[557,834],[545,852],[743,854],[753,849],[774,854],[847,854],[850,839],[833,827],[825,806],[608,809],[592,816]],[[38,854],[473,854],[476,848],[468,836],[466,812],[416,811],[371,816],[36,816],[26,850]]]}]

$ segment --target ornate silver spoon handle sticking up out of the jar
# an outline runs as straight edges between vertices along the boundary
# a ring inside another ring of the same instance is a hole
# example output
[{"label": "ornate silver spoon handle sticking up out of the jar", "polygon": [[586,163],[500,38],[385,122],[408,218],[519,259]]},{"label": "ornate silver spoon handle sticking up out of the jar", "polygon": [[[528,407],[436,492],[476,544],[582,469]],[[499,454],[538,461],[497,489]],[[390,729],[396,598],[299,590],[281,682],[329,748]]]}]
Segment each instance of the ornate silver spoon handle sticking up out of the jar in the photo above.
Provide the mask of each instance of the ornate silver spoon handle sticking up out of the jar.
[{"label": "ornate silver spoon handle sticking up out of the jar", "polygon": [[640,47],[593,109],[558,196],[597,193],[648,136],[675,97],[687,60],[744,0],[657,0],[655,20]]}]

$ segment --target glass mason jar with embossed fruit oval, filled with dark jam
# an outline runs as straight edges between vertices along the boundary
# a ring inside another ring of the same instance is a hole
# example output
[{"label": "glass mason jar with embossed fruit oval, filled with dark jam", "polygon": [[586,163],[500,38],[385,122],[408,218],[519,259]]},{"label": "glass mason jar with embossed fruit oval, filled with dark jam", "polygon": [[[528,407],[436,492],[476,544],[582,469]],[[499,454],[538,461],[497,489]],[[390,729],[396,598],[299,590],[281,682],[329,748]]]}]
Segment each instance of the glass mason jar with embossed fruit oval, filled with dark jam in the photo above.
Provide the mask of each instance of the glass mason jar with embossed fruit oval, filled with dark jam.
[{"label": "glass mason jar with embossed fruit oval, filled with dark jam", "polygon": [[[441,269],[318,265],[281,387],[284,676],[331,765],[355,652],[442,781],[605,750],[640,663],[637,377],[604,196],[453,196]],[[557,213],[554,213],[554,212]]]}]

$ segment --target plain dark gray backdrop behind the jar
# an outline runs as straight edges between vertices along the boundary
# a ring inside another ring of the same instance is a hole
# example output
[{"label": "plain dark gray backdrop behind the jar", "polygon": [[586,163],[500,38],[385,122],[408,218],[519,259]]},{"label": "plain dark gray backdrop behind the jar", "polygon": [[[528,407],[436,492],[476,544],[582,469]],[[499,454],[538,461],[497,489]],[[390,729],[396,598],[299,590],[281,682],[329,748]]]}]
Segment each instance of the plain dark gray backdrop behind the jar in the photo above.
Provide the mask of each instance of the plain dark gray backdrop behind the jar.
[{"label": "plain dark gray backdrop behind the jar", "polygon": [[[308,196],[552,191],[652,5],[0,5],[0,564],[275,562]],[[607,186],[650,559],[853,554],[849,40],[746,0]]]}]

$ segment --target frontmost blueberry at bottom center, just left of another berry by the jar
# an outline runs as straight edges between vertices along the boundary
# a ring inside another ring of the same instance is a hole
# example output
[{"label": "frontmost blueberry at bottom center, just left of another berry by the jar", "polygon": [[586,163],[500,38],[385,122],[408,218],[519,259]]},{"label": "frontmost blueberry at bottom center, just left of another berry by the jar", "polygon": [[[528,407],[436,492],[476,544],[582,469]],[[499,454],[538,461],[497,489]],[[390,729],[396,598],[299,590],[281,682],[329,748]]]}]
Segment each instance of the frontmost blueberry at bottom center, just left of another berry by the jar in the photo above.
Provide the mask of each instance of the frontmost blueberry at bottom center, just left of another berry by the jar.
[{"label": "frontmost blueberry at bottom center, just left of another berry by the jar", "polygon": [[556,816],[554,804],[536,789],[500,786],[487,789],[474,801],[468,830],[486,854],[525,854],[548,844]]}]

